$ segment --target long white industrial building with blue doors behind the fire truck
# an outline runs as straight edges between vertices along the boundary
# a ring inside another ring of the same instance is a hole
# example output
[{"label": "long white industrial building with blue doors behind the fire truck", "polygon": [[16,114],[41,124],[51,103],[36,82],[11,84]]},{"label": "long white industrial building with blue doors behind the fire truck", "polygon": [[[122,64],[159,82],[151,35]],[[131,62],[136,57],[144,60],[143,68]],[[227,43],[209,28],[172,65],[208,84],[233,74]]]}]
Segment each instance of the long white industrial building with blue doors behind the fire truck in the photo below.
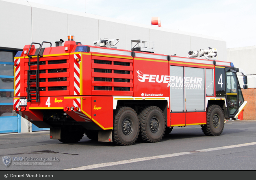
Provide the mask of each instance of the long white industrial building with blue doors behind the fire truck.
[{"label": "long white industrial building with blue doors behind the fire truck", "polygon": [[[38,128],[32,127],[28,121],[12,112],[14,92],[13,57],[24,45],[32,42],[52,42],[63,39],[67,35],[74,35],[75,40],[85,45],[93,45],[99,39],[119,39],[116,45],[119,49],[131,49],[131,41],[141,39],[154,42],[156,54],[189,56],[190,50],[208,49],[218,50],[217,60],[233,61],[232,53],[227,59],[226,42],[217,37],[204,36],[190,32],[165,29],[150,24],[135,24],[98,15],[80,13],[52,6],[45,6],[26,0],[0,0],[0,78],[11,79],[0,82],[0,133],[28,132]],[[249,69],[253,74],[253,67],[234,62],[244,70]],[[8,68],[7,68],[8,67]],[[9,73],[5,73],[8,70]],[[1,84],[2,83],[2,84]],[[253,86],[254,87],[254,86]],[[2,95],[3,94],[3,95]],[[12,94],[7,97],[7,94]],[[4,99],[4,100],[2,100]],[[5,101],[7,100],[7,101]],[[3,111],[8,111],[3,115]],[[3,115],[3,116],[2,116]]]}]

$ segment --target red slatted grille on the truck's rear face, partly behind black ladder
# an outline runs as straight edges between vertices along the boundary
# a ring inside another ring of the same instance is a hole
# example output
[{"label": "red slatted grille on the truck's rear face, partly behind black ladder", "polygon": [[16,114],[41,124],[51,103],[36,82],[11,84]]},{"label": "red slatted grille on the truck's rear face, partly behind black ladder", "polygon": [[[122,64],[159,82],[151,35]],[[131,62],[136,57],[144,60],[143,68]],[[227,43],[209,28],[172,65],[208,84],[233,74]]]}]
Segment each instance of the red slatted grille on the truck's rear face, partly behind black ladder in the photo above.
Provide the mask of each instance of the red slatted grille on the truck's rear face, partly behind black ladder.
[{"label": "red slatted grille on the truck's rear face, partly behind black ladder", "polygon": [[[42,57],[39,59],[39,66],[37,66],[37,60],[32,59],[30,61],[30,94],[33,99],[36,96],[36,70],[39,68],[39,94],[40,96],[59,96],[59,95],[69,95],[69,66],[67,64],[69,60],[59,59],[56,60],[56,57]],[[41,61],[43,60],[43,61]],[[72,61],[73,62],[73,61]],[[72,63],[73,64],[73,63]],[[27,63],[28,65],[28,63]],[[48,66],[49,65],[49,66]],[[62,74],[60,74],[62,73]],[[74,73],[74,72],[72,72]],[[27,78],[25,79],[25,87],[27,86]],[[26,90],[27,92],[27,90]]]}]

